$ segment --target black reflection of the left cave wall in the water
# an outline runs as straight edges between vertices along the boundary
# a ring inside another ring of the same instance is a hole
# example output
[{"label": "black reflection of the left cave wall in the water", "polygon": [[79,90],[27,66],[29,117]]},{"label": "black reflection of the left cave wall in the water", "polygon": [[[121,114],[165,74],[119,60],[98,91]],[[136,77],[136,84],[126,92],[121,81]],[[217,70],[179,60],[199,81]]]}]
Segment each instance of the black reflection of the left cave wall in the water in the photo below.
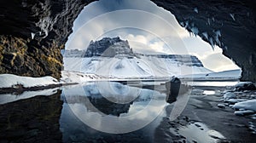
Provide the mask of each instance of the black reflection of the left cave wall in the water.
[{"label": "black reflection of the left cave wall in the water", "polygon": [[60,95],[57,92],[1,105],[0,142],[60,142]]}]

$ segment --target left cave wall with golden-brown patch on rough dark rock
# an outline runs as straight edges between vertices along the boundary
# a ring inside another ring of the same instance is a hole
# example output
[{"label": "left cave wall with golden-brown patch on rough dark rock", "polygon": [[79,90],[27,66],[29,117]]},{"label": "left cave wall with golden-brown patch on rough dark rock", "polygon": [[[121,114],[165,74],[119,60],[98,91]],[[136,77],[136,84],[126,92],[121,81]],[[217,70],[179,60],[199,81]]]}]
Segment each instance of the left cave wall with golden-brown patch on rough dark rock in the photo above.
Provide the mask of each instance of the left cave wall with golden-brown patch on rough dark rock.
[{"label": "left cave wall with golden-brown patch on rough dark rock", "polygon": [[61,77],[61,50],[90,0],[1,1],[0,73]]}]

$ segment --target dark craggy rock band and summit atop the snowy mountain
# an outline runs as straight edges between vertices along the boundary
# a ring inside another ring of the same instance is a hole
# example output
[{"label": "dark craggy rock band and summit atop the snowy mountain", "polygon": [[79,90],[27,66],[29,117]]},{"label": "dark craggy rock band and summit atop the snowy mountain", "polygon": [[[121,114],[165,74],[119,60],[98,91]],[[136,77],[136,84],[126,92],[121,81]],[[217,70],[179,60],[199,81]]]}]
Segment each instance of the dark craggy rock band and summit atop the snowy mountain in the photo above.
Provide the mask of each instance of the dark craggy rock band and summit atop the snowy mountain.
[{"label": "dark craggy rock band and summit atop the snowy mountain", "polygon": [[180,64],[186,66],[201,66],[203,67],[201,60],[194,55],[189,54],[141,54],[135,53],[131,49],[127,40],[122,40],[119,37],[104,37],[102,40],[90,42],[90,45],[86,50],[72,49],[65,50],[64,57],[127,57],[127,58],[160,58],[170,59],[177,61]]}]

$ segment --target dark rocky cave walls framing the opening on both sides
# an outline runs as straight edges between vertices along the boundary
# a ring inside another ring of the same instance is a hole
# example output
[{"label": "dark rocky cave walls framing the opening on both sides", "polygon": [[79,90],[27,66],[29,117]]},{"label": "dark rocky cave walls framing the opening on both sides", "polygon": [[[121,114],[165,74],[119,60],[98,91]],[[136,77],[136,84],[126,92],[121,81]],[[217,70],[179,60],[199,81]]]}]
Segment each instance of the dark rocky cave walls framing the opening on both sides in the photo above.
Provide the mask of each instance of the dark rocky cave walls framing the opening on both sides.
[{"label": "dark rocky cave walls framing the opening on both sides", "polygon": [[[61,77],[62,56],[73,21],[95,0],[9,0],[0,8],[0,73]],[[151,0],[172,12],[188,31],[224,49],[256,81],[253,0]]]}]

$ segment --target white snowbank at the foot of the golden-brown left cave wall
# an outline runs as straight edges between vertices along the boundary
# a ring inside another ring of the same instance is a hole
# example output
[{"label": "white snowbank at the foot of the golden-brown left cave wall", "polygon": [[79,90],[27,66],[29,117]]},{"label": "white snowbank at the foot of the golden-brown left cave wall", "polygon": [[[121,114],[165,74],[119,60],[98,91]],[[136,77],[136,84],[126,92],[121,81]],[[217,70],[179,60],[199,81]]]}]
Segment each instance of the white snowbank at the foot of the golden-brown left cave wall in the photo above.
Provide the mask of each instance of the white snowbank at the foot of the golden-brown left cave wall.
[{"label": "white snowbank at the foot of the golden-brown left cave wall", "polygon": [[20,77],[13,74],[1,74],[0,81],[0,88],[15,88],[18,84],[25,88],[59,84],[54,77]]}]

